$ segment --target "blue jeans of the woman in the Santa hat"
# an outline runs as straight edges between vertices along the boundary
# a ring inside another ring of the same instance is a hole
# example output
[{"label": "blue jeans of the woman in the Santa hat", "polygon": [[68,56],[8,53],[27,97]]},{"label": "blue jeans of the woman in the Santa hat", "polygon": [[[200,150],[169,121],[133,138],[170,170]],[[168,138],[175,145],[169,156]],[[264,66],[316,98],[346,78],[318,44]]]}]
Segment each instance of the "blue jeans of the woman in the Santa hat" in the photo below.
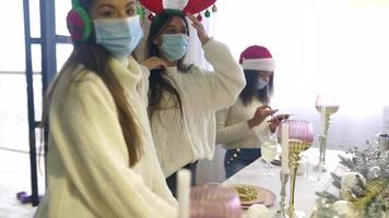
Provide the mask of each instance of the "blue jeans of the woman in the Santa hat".
[{"label": "blue jeans of the woman in the Santa hat", "polygon": [[261,148],[227,149],[224,156],[225,177],[228,179],[261,156]]}]

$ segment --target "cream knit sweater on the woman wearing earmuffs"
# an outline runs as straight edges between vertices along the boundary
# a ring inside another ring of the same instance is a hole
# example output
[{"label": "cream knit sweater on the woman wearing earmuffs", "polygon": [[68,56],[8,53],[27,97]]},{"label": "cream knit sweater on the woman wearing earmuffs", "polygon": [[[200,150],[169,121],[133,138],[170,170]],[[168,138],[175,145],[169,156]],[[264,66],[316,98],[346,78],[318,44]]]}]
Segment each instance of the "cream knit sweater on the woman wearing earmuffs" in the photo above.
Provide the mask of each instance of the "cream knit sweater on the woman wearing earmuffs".
[{"label": "cream knit sweater on the woman wearing earmuffs", "polygon": [[[132,58],[129,69],[115,59],[109,64],[139,119],[143,155],[129,168],[116,106],[103,81],[82,66],[63,72],[49,111],[48,186],[35,217],[176,216],[146,116],[149,71]],[[74,73],[79,75],[72,78]]]}]

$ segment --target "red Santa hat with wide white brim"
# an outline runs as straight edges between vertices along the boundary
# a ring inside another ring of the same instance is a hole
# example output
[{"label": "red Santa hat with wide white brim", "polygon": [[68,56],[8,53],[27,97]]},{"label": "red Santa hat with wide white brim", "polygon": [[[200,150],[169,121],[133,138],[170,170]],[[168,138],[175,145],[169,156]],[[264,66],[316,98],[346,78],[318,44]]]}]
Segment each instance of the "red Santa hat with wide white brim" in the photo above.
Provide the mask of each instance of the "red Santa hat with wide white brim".
[{"label": "red Santa hat with wide white brim", "polygon": [[274,71],[275,62],[263,46],[250,46],[240,53],[239,63],[244,70]]}]

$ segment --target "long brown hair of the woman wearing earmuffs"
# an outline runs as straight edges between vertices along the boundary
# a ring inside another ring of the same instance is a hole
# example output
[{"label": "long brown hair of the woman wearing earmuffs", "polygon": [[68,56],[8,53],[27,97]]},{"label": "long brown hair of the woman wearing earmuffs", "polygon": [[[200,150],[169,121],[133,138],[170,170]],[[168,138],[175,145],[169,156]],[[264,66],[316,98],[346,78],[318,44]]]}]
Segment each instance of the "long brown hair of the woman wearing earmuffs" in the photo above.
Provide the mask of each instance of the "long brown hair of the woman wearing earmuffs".
[{"label": "long brown hair of the woman wearing earmuffs", "polygon": [[[79,4],[89,12],[94,3],[94,0],[79,0]],[[95,43],[94,34],[92,34],[86,41],[73,41],[73,46],[74,49],[71,56],[47,93],[47,101],[45,102],[44,112],[46,121],[48,120],[48,107],[51,101],[51,95],[56,89],[58,80],[60,80],[66,70],[74,68],[74,65],[81,63],[85,69],[97,74],[103,80],[114,98],[121,131],[127,145],[129,166],[132,167],[141,158],[141,132],[134,111],[129,107],[126,99],[125,89],[115,76],[114,69],[108,64],[111,55],[103,46]],[[78,75],[74,75],[73,80],[75,80],[76,76]]]}]

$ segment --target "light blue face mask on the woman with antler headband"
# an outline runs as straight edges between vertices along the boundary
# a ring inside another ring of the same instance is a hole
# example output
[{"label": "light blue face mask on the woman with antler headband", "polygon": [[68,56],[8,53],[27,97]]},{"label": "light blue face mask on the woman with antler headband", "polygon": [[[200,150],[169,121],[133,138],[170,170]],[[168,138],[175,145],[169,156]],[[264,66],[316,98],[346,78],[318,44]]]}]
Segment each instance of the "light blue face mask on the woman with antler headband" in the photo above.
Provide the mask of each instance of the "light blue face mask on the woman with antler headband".
[{"label": "light blue face mask on the woman with antler headband", "polygon": [[181,59],[188,50],[188,36],[184,34],[165,34],[162,36],[161,51],[168,61]]}]

